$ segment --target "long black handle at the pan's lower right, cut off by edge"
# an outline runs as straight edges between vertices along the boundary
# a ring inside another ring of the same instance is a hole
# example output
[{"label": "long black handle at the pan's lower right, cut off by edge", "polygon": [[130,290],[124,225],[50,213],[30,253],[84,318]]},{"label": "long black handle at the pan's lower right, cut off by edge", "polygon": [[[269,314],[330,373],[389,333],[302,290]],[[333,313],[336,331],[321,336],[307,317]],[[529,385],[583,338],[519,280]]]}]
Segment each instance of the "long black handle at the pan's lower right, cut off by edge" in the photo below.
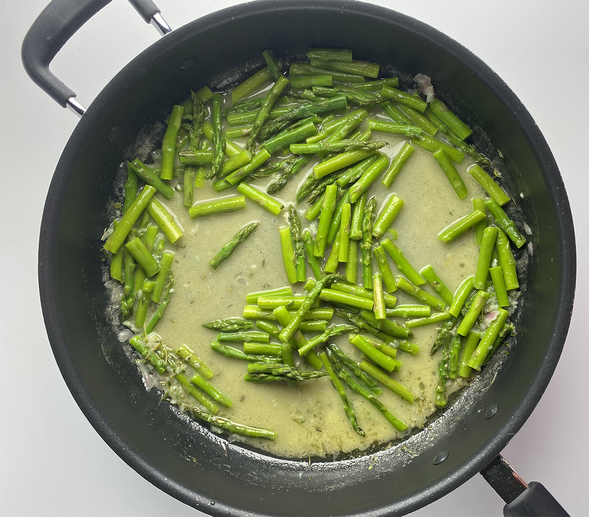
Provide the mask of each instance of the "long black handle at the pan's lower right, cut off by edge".
[{"label": "long black handle at the pan's lower right, cut off by edge", "polygon": [[568,513],[544,488],[532,481],[528,485],[499,455],[481,470],[481,475],[505,501],[505,517],[568,517]]}]

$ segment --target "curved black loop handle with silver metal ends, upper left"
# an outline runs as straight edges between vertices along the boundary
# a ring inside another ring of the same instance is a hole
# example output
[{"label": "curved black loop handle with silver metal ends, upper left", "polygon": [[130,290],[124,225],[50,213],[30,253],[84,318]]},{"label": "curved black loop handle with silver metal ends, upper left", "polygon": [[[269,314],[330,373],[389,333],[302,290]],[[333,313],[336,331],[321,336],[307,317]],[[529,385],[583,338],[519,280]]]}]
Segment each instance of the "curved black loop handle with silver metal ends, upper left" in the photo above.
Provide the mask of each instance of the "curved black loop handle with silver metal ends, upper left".
[{"label": "curved black loop handle with silver metal ends, upper left", "polygon": [[[37,16],[22,41],[21,59],[29,77],[61,107],[70,108],[80,117],[86,108],[77,100],[75,92],[51,73],[49,64],[68,39],[110,1],[52,0]],[[154,2],[129,1],[161,35],[171,31]]]}]

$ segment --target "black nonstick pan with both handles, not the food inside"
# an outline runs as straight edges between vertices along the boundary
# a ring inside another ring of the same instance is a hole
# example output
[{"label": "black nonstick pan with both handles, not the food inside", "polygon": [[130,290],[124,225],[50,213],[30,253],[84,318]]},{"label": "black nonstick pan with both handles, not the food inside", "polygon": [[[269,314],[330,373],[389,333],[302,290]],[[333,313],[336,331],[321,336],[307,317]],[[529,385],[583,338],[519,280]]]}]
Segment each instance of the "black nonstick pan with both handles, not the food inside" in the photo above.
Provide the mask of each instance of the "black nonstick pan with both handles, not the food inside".
[{"label": "black nonstick pan with both handles, not the food inside", "polygon": [[[132,3],[145,21],[167,32],[153,2]],[[108,445],[154,485],[211,515],[401,515],[479,471],[508,503],[505,515],[566,515],[540,483],[525,485],[498,456],[554,372],[570,323],[576,269],[562,178],[530,114],[507,85],[452,39],[388,9],[262,0],[167,34],[119,72],[85,111],[48,65],[106,4],[51,2],[25,37],[22,59],[54,100],[83,114],[45,203],[39,289],[61,373]],[[286,461],[227,443],[145,392],[106,315],[100,253],[105,207],[120,195],[113,188],[115,175],[140,129],[162,120],[190,88],[223,89],[245,78],[260,67],[266,48],[293,58],[309,46],[353,48],[355,56],[380,62],[385,77],[399,73],[409,81],[422,72],[434,78],[436,93],[454,111],[485,128],[475,142],[497,160],[508,190],[524,194],[511,215],[535,229],[533,253],[521,252],[528,266],[518,271],[519,332],[508,342],[509,355],[499,350],[444,412],[402,443],[373,451],[372,460]]]}]

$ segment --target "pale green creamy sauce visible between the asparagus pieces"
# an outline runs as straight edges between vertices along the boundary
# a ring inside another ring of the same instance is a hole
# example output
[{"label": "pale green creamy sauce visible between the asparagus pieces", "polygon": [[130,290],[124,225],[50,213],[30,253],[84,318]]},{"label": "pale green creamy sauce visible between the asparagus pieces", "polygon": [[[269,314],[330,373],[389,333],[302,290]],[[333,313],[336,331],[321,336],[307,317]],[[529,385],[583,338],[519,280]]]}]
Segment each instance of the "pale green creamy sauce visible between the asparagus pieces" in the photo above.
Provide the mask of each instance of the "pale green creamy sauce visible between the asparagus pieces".
[{"label": "pale green creamy sauce visible between the asparagus pieces", "polygon": [[[391,145],[381,150],[390,157],[396,154],[405,138],[375,133],[372,140],[391,142]],[[310,173],[313,164],[315,162],[292,178],[287,187],[275,196],[281,198],[285,206],[290,200],[294,200],[297,186]],[[469,158],[465,158],[462,164],[456,165],[468,187],[468,195],[462,201],[452,190],[434,157],[418,147],[390,190],[380,183],[381,178],[377,178],[368,191],[369,195],[377,196],[377,213],[383,198],[391,192],[405,201],[401,213],[393,223],[393,228],[398,232],[395,243],[415,269],[431,264],[452,292],[465,277],[474,273],[478,246],[472,230],[456,238],[451,244],[442,243],[437,234],[456,218],[472,211],[472,197],[484,197],[484,191],[466,172],[471,164]],[[264,188],[274,179],[270,177],[267,180],[253,181],[252,184]],[[211,182],[206,182],[203,188],[195,190],[195,200],[219,197],[211,187]],[[226,191],[220,195],[233,193],[234,191]],[[184,236],[174,246],[168,246],[176,253],[172,267],[175,292],[156,332],[171,349],[186,343],[214,370],[210,382],[233,401],[231,409],[220,406],[220,416],[251,426],[273,429],[277,433],[275,441],[242,436],[236,436],[237,440],[251,443],[273,455],[305,458],[364,450],[371,445],[384,444],[403,436],[367,400],[346,389],[355,408],[358,423],[366,433],[365,438],[358,435],[346,418],[339,394],[331,386],[328,377],[307,380],[296,387],[282,383],[248,383],[243,380],[246,362],[229,359],[211,350],[210,343],[216,339],[217,333],[205,329],[203,323],[241,316],[247,293],[289,284],[278,236],[278,228],[286,224],[287,210],[275,217],[246,198],[246,210],[191,220],[188,209],[182,205],[180,192],[172,200],[161,197],[160,200],[176,214],[184,228]],[[309,227],[315,236],[316,221],[309,223],[304,217],[307,207],[305,201],[297,207],[300,220],[302,227]],[[229,259],[213,270],[209,266],[209,260],[240,227],[252,220],[260,221],[257,230]],[[398,274],[392,260],[389,263],[393,274]],[[378,271],[375,261],[373,270]],[[343,264],[340,264],[339,271],[343,273]],[[359,264],[359,283],[361,274]],[[307,277],[312,277],[308,267]],[[423,289],[433,292],[429,287]],[[305,294],[302,283],[296,284],[293,290]],[[398,297],[398,304],[416,303],[400,291],[394,294]],[[330,323],[334,322],[337,322],[336,318]],[[393,415],[409,427],[422,426],[426,417],[435,409],[434,389],[438,382],[439,354],[430,357],[429,349],[435,339],[436,327],[436,324],[432,324],[413,329],[410,340],[420,347],[416,356],[401,351],[397,354],[397,359],[403,362],[403,366],[392,377],[413,393],[415,402],[412,405],[405,402],[386,387],[382,387],[382,394],[378,397]],[[353,359],[360,359],[359,351],[349,343],[348,334],[330,342],[336,343]],[[240,347],[239,343],[236,345]],[[299,360],[298,356],[296,360]],[[305,369],[305,366],[302,368]],[[454,387],[457,386],[459,382],[454,383]]]}]

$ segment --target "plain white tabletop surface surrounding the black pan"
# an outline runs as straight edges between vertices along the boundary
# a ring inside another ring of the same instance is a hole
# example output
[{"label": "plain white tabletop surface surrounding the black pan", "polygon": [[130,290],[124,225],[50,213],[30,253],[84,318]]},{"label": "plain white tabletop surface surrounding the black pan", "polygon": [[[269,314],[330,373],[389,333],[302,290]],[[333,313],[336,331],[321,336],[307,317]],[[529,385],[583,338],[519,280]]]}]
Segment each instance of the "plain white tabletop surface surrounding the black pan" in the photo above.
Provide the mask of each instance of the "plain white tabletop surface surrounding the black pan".
[{"label": "plain white tabletop surface surrounding the black pan", "polygon": [[[51,174],[77,117],[27,77],[20,45],[47,2],[0,3],[2,515],[203,515],[154,488],[95,433],[59,374],[45,334],[37,243]],[[157,2],[172,28],[239,2]],[[539,125],[567,187],[577,236],[577,297],[564,352],[540,403],[503,454],[571,515],[589,514],[587,121],[589,2],[380,0],[456,39],[494,69]],[[84,104],[158,38],[115,0],[76,34],[52,70]],[[25,197],[16,197],[27,188]],[[413,515],[502,515],[481,476]]]}]

